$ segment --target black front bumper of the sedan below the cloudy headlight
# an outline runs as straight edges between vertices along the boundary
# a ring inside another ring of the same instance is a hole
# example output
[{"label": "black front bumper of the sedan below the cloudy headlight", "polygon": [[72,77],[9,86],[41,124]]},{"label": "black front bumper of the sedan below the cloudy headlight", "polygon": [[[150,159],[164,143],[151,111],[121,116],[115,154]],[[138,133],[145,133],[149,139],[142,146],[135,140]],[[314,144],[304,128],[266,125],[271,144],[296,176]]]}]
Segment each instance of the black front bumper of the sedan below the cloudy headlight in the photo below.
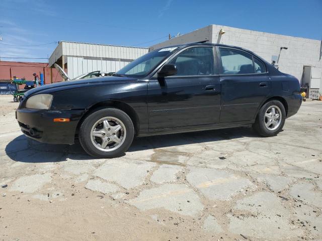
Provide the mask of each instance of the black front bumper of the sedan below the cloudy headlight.
[{"label": "black front bumper of the sedan below the cloudy headlight", "polygon": [[[17,109],[16,119],[23,134],[42,143],[73,144],[76,127],[85,110]],[[69,122],[53,122],[69,118]]]}]

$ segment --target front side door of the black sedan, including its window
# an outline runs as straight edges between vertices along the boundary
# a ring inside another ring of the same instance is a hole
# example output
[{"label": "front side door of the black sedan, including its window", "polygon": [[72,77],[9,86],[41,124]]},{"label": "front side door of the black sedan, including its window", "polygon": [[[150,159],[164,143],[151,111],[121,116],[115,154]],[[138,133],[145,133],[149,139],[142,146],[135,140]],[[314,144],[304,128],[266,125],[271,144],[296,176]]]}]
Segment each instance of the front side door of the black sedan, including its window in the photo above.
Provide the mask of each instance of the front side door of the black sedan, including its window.
[{"label": "front side door of the black sedan, including its window", "polygon": [[176,75],[155,74],[148,82],[149,129],[198,126],[219,122],[220,79],[212,46],[190,46],[167,63]]}]

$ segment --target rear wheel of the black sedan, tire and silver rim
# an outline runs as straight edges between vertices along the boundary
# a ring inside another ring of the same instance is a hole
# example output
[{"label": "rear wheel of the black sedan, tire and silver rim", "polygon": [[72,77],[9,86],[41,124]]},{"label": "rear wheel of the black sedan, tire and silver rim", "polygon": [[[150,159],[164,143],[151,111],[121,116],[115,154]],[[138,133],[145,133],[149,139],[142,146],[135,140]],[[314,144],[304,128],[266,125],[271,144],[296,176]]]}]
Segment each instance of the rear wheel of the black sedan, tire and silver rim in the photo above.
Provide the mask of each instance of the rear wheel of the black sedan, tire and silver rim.
[{"label": "rear wheel of the black sedan, tire and silver rim", "polygon": [[285,118],[284,105],[278,100],[271,100],[261,107],[253,128],[260,136],[273,137],[282,130]]}]

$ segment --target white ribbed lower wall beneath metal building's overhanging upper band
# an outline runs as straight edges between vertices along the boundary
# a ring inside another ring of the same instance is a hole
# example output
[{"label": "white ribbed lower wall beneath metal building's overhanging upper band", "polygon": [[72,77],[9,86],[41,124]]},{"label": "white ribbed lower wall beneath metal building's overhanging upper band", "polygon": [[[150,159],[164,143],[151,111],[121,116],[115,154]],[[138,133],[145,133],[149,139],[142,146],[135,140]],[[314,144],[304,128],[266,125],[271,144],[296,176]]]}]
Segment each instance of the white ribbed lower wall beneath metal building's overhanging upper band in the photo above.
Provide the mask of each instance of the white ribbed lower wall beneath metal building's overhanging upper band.
[{"label": "white ribbed lower wall beneath metal building's overhanging upper band", "polygon": [[116,72],[129,62],[110,61],[98,59],[85,59],[82,57],[67,57],[67,72],[70,78],[92,71]]}]

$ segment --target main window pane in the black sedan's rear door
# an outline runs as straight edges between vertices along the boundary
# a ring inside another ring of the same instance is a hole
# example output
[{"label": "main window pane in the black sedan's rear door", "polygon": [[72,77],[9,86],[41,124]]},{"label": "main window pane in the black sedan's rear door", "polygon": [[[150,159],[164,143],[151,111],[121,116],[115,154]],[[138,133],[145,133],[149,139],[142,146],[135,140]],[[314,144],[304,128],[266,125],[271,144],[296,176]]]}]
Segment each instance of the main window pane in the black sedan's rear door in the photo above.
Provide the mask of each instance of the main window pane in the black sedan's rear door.
[{"label": "main window pane in the black sedan's rear door", "polygon": [[234,49],[219,48],[223,74],[253,74],[252,55]]}]

